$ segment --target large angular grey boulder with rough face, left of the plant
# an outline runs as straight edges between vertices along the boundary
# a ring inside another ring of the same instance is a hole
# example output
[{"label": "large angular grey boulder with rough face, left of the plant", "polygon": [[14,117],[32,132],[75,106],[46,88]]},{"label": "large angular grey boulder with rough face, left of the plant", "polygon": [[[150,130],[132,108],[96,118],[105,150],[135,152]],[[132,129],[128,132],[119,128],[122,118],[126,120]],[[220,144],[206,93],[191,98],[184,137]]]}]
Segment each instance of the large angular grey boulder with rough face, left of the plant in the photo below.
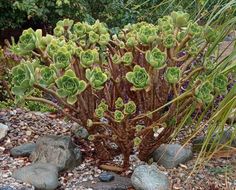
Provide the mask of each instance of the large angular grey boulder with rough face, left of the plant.
[{"label": "large angular grey boulder with rough face, left of the plant", "polygon": [[63,171],[79,165],[82,154],[69,136],[47,135],[37,140],[30,160],[35,163],[50,163]]}]

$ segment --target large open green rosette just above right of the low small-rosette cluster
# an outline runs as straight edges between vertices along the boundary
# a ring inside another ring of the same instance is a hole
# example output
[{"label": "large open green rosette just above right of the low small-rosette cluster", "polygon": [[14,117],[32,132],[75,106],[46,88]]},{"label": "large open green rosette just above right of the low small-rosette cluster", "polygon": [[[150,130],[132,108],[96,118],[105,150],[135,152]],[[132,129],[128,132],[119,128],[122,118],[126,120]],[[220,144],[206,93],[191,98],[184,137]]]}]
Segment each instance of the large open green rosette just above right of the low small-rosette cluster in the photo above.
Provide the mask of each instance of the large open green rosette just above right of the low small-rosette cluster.
[{"label": "large open green rosette just above right of the low small-rosette cluster", "polygon": [[126,79],[133,84],[132,90],[142,90],[148,87],[150,77],[145,68],[135,65],[132,72],[126,73]]}]

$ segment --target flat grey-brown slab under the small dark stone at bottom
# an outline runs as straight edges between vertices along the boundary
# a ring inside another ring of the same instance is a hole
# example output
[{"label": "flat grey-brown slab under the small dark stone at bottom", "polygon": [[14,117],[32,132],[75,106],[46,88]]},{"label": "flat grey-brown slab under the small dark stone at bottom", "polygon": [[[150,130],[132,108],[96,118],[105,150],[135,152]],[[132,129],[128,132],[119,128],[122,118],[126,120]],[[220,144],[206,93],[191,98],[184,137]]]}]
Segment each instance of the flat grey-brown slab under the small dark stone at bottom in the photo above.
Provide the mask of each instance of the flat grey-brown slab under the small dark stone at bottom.
[{"label": "flat grey-brown slab under the small dark stone at bottom", "polygon": [[113,172],[109,173],[114,176],[114,180],[101,182],[98,178],[95,178],[95,183],[92,183],[91,181],[82,182],[78,184],[78,188],[83,186],[87,189],[92,188],[93,190],[127,190],[132,187],[130,178],[120,176]]}]

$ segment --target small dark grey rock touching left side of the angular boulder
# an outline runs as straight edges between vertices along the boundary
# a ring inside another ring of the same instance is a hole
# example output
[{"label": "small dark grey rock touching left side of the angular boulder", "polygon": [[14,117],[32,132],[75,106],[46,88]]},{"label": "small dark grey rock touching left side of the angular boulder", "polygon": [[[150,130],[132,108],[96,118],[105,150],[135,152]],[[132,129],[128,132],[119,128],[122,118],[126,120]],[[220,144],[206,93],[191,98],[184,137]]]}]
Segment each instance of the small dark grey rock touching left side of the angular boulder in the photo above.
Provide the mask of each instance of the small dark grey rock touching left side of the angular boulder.
[{"label": "small dark grey rock touching left side of the angular boulder", "polygon": [[35,143],[27,143],[20,146],[16,146],[10,150],[10,154],[13,157],[29,156],[33,150],[35,150]]}]

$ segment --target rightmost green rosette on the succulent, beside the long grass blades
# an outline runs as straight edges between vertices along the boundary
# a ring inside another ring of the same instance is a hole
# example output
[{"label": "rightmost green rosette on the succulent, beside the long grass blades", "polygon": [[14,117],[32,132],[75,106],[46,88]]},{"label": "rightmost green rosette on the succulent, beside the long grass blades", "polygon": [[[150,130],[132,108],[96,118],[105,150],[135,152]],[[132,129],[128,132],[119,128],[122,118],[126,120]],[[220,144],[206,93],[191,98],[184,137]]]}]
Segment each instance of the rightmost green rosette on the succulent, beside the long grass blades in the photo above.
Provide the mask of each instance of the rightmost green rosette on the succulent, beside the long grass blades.
[{"label": "rightmost green rosette on the succulent, beside the long grass blades", "polygon": [[213,86],[219,93],[227,92],[228,78],[223,74],[217,74],[213,78]]}]

